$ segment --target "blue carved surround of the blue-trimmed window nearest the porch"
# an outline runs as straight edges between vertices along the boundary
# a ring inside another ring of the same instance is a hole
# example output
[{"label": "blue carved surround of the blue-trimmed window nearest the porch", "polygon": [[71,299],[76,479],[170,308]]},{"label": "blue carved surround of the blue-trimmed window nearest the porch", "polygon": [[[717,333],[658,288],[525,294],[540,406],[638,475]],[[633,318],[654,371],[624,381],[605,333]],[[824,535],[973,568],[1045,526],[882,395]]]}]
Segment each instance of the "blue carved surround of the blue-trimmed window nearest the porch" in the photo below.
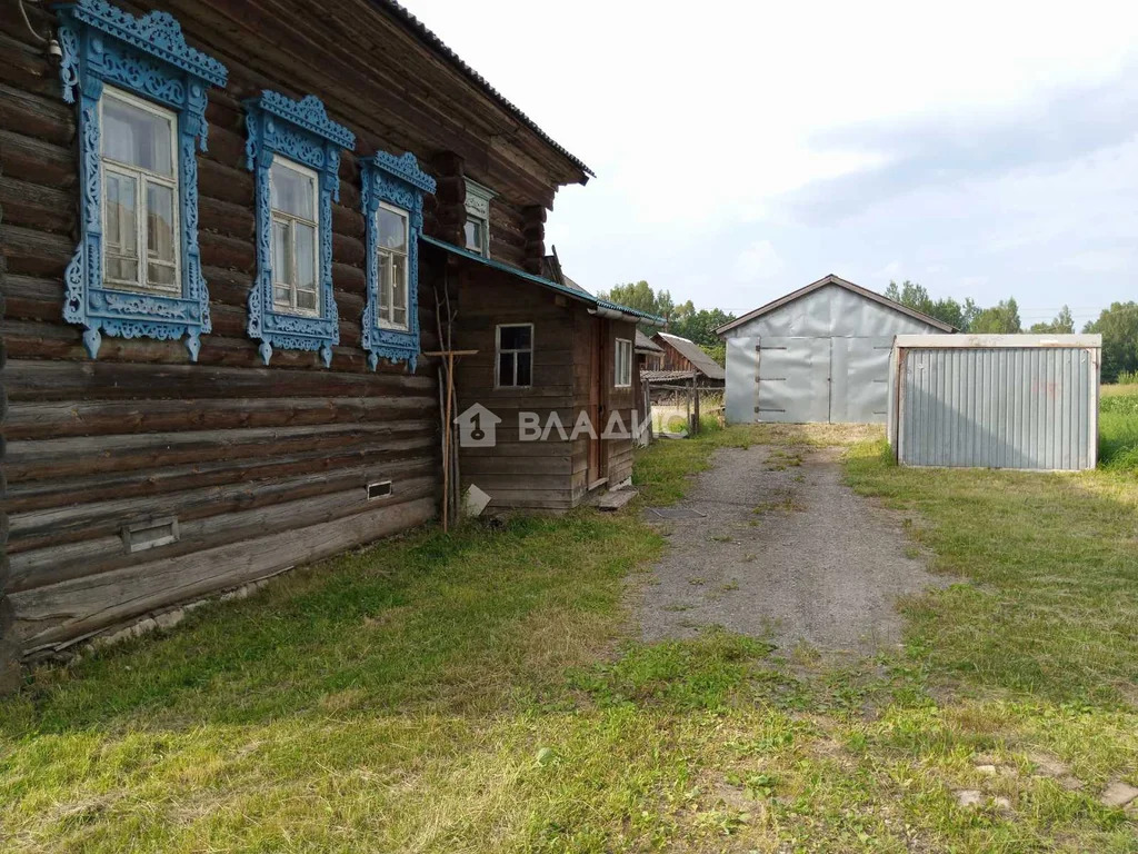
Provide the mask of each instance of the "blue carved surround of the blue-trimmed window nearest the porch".
[{"label": "blue carved surround of the blue-trimmed window nearest the porch", "polygon": [[[415,369],[419,359],[419,237],[423,231],[423,194],[435,192],[435,179],[419,169],[410,151],[396,157],[379,151],[360,158],[363,213],[368,225],[368,302],[363,310],[363,348],[372,370],[380,359],[406,362]],[[381,202],[407,213],[407,328],[393,329],[379,321],[379,228],[376,215]]]}]

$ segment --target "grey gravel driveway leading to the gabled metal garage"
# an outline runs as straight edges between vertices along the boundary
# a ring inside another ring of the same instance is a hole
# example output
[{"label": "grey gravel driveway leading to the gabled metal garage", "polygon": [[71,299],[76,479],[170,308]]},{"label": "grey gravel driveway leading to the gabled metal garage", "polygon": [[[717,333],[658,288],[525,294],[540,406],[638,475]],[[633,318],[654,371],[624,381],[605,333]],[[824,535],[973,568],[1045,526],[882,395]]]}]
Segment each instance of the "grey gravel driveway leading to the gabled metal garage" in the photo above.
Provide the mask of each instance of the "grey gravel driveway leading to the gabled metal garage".
[{"label": "grey gravel driveway leading to the gabled metal garage", "polygon": [[719,625],[782,651],[803,641],[857,654],[897,643],[897,597],[947,581],[925,570],[896,515],[842,483],[840,455],[721,449],[682,504],[646,510],[670,548],[641,593],[644,639]]}]

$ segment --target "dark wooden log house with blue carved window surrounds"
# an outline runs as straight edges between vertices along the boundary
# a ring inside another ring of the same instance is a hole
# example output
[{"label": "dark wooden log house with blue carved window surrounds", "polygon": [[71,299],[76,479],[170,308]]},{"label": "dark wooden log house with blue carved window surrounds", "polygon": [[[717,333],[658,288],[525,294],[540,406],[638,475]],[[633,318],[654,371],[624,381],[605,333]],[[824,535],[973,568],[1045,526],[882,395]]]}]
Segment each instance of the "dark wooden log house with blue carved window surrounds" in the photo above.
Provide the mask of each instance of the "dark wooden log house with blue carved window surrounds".
[{"label": "dark wooden log house with blue carved window surrounds", "polygon": [[[633,315],[538,276],[588,169],[399,5],[22,6],[0,16],[0,685],[434,518],[423,353],[478,351],[462,402],[625,405],[599,371]],[[514,321],[530,376],[505,392]],[[566,507],[628,470],[583,452],[583,476],[561,452],[461,462],[502,506]]]}]

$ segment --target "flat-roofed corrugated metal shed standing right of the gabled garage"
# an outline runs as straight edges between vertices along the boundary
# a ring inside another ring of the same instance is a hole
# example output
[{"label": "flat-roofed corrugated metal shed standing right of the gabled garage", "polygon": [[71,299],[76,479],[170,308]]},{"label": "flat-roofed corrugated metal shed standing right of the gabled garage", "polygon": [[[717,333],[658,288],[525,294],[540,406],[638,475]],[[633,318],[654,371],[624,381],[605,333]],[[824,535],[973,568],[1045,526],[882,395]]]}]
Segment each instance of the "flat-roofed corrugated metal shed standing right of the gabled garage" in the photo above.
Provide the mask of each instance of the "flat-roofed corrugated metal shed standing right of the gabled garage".
[{"label": "flat-roofed corrugated metal shed standing right of the gabled garage", "polygon": [[1099,335],[899,335],[889,436],[907,466],[1078,470],[1098,450]]}]

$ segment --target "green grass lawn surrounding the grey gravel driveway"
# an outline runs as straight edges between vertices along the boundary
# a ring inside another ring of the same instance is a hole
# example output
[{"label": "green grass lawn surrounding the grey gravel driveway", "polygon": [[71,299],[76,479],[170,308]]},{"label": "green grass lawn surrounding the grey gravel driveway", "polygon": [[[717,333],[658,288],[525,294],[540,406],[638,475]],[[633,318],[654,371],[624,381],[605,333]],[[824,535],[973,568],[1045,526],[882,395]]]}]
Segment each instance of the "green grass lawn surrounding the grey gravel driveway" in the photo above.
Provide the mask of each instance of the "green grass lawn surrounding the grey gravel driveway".
[{"label": "green grass lawn surrounding the grey gravel driveway", "polygon": [[[1106,424],[1104,445],[1132,426]],[[0,849],[1138,851],[1097,799],[1138,785],[1125,441],[1064,476],[902,469],[853,440],[851,485],[959,580],[905,603],[904,654],[634,641],[626,585],[666,544],[635,507],[424,529],[35,673],[0,701]],[[708,430],[635,477],[675,501],[760,441],[850,437]]]}]

